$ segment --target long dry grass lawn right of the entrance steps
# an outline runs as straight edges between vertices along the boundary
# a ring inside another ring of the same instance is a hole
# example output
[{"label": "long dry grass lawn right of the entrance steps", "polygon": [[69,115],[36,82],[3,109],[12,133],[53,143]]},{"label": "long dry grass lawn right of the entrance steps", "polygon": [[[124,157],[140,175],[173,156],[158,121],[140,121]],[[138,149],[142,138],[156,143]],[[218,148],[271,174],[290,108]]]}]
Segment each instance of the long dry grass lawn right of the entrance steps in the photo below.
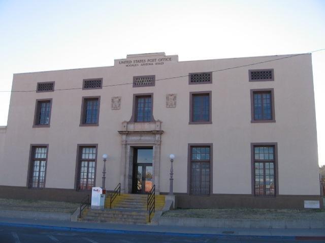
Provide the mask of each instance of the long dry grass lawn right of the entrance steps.
[{"label": "long dry grass lawn right of the entrance steps", "polygon": [[163,217],[210,219],[324,219],[325,210],[294,209],[176,209]]}]

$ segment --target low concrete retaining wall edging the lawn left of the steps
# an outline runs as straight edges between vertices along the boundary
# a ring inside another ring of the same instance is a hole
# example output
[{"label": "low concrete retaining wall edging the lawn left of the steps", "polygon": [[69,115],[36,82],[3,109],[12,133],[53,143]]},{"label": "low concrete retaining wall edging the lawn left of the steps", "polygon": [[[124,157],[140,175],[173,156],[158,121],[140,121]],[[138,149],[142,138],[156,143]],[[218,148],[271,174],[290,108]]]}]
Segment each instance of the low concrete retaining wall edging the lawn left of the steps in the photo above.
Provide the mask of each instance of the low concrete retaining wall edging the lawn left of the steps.
[{"label": "low concrete retaining wall edging the lawn left of the steps", "polygon": [[39,211],[14,211],[0,210],[1,217],[18,218],[18,219],[39,219],[39,220],[60,220],[70,221],[71,214],[69,213],[51,213]]}]

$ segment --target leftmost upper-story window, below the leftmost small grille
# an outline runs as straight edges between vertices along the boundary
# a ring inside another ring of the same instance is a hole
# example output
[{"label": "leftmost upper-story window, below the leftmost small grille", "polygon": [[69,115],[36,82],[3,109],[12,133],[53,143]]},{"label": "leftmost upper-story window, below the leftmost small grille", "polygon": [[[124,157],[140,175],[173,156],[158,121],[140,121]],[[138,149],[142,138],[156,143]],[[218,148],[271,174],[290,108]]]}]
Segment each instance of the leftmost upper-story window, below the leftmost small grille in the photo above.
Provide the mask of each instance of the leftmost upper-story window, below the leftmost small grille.
[{"label": "leftmost upper-story window, below the leftmost small grille", "polygon": [[33,127],[50,126],[51,108],[52,108],[52,99],[36,100]]}]

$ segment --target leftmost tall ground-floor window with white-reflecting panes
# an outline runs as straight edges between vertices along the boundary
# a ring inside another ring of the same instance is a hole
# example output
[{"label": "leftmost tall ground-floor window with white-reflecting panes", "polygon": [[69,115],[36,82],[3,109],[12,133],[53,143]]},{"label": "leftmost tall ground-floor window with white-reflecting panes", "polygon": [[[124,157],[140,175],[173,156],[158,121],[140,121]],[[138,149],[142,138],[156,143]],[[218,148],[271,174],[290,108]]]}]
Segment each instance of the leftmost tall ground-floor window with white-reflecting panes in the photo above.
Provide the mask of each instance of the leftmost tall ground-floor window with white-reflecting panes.
[{"label": "leftmost tall ground-floor window with white-reflecting panes", "polygon": [[45,187],[47,150],[47,146],[31,146],[28,177],[28,188],[30,189]]}]

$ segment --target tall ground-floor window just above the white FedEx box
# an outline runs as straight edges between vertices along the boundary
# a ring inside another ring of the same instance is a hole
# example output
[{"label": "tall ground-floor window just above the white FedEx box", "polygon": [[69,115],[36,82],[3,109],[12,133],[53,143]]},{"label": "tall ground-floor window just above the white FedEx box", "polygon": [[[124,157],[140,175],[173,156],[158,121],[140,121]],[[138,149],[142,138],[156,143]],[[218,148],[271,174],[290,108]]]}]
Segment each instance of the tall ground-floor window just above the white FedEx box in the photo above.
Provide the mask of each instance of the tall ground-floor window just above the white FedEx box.
[{"label": "tall ground-floor window just above the white FedEx box", "polygon": [[77,190],[91,190],[95,184],[96,146],[79,146]]}]

